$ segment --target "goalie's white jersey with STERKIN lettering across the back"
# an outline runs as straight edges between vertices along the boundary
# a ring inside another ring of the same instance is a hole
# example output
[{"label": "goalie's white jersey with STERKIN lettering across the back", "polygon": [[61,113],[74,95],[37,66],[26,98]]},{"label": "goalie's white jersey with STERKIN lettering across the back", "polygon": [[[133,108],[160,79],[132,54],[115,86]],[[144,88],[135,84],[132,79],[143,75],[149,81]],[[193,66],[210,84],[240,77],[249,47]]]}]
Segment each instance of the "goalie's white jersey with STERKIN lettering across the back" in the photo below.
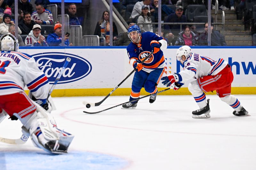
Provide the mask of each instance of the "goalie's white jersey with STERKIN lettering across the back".
[{"label": "goalie's white jersey with STERKIN lettering across the back", "polygon": [[36,99],[47,98],[48,78],[36,66],[35,59],[16,51],[1,51],[0,95],[22,92],[25,85]]}]

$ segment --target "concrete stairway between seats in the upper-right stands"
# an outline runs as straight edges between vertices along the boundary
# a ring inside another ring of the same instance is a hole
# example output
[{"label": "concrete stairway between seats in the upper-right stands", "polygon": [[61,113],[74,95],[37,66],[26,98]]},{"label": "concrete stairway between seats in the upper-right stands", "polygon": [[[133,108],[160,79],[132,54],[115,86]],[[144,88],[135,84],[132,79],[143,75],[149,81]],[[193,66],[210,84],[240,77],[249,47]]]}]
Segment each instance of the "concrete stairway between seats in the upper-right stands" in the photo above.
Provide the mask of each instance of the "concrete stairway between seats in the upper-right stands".
[{"label": "concrete stairway between seats in the upper-right stands", "polygon": [[[212,10],[212,16],[215,18],[215,10]],[[228,46],[252,46],[252,36],[250,31],[244,30],[242,20],[236,19],[235,11],[225,12],[225,31],[222,31],[222,26],[218,25],[217,30],[225,35],[225,40]],[[216,21],[215,21],[216,22]],[[217,23],[221,22],[221,12],[217,14]]]}]

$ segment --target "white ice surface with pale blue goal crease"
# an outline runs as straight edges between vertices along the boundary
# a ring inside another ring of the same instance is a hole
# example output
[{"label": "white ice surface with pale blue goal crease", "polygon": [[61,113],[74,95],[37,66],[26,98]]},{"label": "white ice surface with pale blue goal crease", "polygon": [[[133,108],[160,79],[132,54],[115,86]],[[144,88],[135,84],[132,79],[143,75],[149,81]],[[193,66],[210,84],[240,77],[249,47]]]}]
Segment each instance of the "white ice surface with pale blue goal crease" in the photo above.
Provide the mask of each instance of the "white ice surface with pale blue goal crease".
[{"label": "white ice surface with pale blue goal crease", "polygon": [[[53,98],[52,112],[60,129],[74,134],[68,154],[51,155],[33,146],[0,143],[0,169],[86,170],[255,170],[256,95],[236,95],[251,116],[238,117],[216,95],[210,99],[211,118],[193,119],[198,109],[192,96],[158,95],[139,101],[136,109],[115,106],[129,96],[110,96],[98,107],[82,101],[99,97]],[[0,137],[19,138],[21,123],[5,119]]]}]

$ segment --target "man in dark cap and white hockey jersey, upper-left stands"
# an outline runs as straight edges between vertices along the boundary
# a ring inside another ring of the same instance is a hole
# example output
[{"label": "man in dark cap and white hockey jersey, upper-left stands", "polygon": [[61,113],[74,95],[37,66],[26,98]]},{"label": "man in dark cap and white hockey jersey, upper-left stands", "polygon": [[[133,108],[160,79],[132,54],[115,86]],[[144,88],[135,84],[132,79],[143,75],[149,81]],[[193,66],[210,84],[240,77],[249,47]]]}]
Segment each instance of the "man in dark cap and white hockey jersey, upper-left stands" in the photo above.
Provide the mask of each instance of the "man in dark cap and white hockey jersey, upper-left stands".
[{"label": "man in dark cap and white hockey jersey, upper-left stands", "polygon": [[44,9],[43,4],[36,4],[36,11],[32,13],[31,18],[36,24],[53,24],[52,12]]}]

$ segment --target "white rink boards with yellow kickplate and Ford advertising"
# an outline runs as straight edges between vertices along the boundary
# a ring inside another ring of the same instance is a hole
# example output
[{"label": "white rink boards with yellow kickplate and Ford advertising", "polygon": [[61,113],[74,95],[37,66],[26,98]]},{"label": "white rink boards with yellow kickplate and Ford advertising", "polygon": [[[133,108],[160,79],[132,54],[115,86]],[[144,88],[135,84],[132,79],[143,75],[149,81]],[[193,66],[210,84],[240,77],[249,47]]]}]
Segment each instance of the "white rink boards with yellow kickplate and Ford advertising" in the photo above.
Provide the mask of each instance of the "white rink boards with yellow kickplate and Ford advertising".
[{"label": "white rink boards with yellow kickplate and Ford advertising", "polygon": [[[179,47],[168,47],[163,50],[166,62],[164,76],[182,70],[180,62],[176,60],[177,48]],[[228,61],[234,74],[233,94],[256,94],[256,48],[192,47],[192,50],[213,60],[223,58]],[[133,70],[125,47],[21,47],[20,52],[35,58],[39,69],[44,71],[51,84],[65,58],[71,58],[52,93],[53,97],[106,96]],[[129,95],[132,77],[133,75],[124,81],[112,95]],[[178,91],[169,90],[163,94],[189,95],[187,85],[188,83]],[[158,88],[162,90],[166,87],[160,83]],[[143,89],[141,94],[147,93]]]}]

